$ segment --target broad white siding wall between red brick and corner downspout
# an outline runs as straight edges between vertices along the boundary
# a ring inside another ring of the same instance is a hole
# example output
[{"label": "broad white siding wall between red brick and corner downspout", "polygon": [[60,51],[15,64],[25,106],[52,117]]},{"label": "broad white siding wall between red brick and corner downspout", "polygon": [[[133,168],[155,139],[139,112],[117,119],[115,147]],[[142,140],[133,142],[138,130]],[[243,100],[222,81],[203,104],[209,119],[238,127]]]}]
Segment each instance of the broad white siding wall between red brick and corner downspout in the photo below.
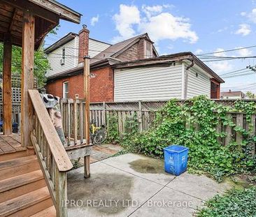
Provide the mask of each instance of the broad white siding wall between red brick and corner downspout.
[{"label": "broad white siding wall between red brick and corner downspout", "polygon": [[115,101],[181,98],[181,64],[115,70]]}]

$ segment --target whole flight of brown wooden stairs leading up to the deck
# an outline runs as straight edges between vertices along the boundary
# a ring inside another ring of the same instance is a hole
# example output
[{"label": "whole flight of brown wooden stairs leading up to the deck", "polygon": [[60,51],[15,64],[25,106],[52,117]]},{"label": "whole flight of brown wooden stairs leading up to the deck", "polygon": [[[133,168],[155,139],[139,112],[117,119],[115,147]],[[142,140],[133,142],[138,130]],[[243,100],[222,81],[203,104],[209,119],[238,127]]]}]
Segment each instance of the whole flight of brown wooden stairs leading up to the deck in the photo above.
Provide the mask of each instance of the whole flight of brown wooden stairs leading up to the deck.
[{"label": "whole flight of brown wooden stairs leading up to the deck", "polygon": [[0,217],[56,216],[36,155],[0,158]]}]

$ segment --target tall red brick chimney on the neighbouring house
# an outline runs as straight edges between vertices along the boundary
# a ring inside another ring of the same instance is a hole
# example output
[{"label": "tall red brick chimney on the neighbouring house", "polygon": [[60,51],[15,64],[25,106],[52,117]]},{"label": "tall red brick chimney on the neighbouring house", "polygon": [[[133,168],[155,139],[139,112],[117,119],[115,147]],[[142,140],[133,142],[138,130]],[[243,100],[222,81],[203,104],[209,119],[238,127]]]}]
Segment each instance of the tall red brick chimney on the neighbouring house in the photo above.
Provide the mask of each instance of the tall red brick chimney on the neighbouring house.
[{"label": "tall red brick chimney on the neighbouring house", "polygon": [[83,25],[83,29],[79,31],[79,51],[78,51],[78,63],[83,62],[83,57],[88,56],[89,50],[89,33],[86,25]]}]

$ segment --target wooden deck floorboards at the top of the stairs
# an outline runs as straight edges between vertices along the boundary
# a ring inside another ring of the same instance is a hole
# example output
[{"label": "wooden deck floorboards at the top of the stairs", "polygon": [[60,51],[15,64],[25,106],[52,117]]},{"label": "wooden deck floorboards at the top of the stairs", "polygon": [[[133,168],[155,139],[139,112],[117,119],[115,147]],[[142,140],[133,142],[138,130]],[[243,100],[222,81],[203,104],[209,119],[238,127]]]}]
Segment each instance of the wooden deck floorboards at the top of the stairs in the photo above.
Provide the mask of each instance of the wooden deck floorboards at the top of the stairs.
[{"label": "wooden deck floorboards at the top of the stairs", "polygon": [[18,134],[3,135],[0,134],[0,155],[15,153],[17,151],[26,151],[27,148],[22,147],[21,137]]}]

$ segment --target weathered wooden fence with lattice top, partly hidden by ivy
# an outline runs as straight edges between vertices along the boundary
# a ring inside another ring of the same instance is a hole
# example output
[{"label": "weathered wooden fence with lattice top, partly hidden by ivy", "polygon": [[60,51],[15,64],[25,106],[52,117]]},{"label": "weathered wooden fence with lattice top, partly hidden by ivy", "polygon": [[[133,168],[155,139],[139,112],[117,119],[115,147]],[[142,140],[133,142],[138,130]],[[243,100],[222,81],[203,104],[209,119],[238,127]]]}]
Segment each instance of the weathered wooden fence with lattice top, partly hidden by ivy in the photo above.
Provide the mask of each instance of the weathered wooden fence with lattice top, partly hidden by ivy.
[{"label": "weathered wooden fence with lattice top, partly hidden by ivy", "polygon": [[[76,102],[76,103],[74,103]],[[95,121],[97,126],[104,125],[108,128],[109,119],[115,117],[116,126],[120,137],[126,132],[127,121],[133,119],[138,124],[138,130],[148,130],[157,110],[163,107],[166,101],[138,101],[138,102],[122,102],[122,103],[91,103],[90,104],[90,121]],[[80,99],[62,99],[62,115],[65,135],[83,138],[83,112],[85,101]],[[76,107],[76,111],[74,110]],[[231,141],[242,144],[244,137],[239,131],[234,130],[234,127],[240,126],[248,130],[249,124],[246,121],[246,114],[239,112],[227,113],[227,118],[232,120],[234,126],[223,126],[219,124],[216,127],[216,132],[225,133],[226,136],[219,137],[218,142],[222,145],[227,145]],[[255,135],[255,114],[251,117],[252,126],[251,136]],[[186,127],[190,128],[191,124],[187,121]],[[195,126],[197,129],[197,126]],[[253,145],[253,154],[255,154],[255,145]]]}]

